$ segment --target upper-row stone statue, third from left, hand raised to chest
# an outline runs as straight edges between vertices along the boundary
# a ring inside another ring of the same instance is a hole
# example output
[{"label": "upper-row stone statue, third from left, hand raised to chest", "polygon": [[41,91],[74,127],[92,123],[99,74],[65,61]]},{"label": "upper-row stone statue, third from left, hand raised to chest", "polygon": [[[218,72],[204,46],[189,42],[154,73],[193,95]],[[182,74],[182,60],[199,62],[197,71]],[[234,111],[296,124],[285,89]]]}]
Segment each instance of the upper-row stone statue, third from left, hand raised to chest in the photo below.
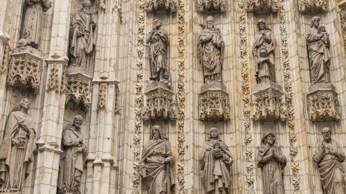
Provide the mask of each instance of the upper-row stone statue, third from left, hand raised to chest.
[{"label": "upper-row stone statue, third from left, hand raised to chest", "polygon": [[155,19],[154,26],[154,29],[147,36],[147,44],[149,44],[150,80],[152,82],[165,82],[170,77],[167,66],[167,52],[170,41],[168,40],[167,32],[161,30],[162,23],[160,19]]}]

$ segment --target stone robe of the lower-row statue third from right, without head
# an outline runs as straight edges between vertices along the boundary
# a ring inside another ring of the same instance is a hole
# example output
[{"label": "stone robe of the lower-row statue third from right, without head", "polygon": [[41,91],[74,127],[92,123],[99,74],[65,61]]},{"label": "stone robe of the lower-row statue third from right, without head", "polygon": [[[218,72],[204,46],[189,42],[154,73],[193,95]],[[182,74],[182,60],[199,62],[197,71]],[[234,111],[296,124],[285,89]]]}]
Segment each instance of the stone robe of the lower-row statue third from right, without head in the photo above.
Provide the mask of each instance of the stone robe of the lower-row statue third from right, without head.
[{"label": "stone robe of the lower-row statue third from right, without head", "polygon": [[[222,157],[215,159],[211,152],[215,143],[219,143],[221,150],[230,157],[228,161],[222,160]],[[218,189],[222,189],[226,193],[230,192],[230,165],[233,164],[233,157],[223,141],[206,141],[201,155],[199,155],[199,164],[205,193]]]}]

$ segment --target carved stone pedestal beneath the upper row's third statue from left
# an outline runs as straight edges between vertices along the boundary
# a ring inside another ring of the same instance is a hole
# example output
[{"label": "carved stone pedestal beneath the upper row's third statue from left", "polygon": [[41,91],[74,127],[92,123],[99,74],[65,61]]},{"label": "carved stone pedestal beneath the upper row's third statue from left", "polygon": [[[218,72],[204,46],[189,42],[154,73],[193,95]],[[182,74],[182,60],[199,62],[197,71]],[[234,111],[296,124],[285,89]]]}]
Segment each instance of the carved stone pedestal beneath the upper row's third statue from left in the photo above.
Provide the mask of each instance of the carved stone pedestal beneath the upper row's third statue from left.
[{"label": "carved stone pedestal beneath the upper row's third statue from left", "polygon": [[164,82],[154,82],[147,85],[145,96],[147,98],[143,108],[144,120],[176,120],[176,96],[173,91],[167,89]]}]

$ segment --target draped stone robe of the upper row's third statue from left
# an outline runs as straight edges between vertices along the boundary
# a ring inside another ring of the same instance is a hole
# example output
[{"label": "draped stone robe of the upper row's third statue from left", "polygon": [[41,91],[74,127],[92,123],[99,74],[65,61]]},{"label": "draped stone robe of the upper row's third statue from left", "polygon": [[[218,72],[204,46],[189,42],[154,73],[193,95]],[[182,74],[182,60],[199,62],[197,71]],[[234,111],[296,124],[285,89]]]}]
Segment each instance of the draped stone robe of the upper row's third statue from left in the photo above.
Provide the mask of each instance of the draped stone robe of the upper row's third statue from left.
[{"label": "draped stone robe of the upper row's third statue from left", "polygon": [[[150,31],[149,34],[152,32]],[[149,64],[152,80],[156,80],[160,76],[161,69],[167,69],[167,43],[163,37],[160,37],[158,33],[165,35],[168,39],[167,32],[165,30],[157,30],[150,39],[149,46]]]}]

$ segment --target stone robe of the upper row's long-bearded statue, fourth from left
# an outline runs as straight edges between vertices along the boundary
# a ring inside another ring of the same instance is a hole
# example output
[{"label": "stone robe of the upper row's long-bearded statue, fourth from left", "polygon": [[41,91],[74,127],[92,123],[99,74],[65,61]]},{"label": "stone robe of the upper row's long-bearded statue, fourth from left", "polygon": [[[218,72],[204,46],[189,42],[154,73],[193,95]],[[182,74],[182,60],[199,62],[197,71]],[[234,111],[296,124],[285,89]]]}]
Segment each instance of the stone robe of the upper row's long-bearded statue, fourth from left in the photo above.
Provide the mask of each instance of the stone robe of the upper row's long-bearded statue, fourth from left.
[{"label": "stone robe of the upper row's long-bearded statue, fourth from left", "polygon": [[[212,39],[207,40],[207,37],[212,34]],[[219,47],[215,46],[212,41],[217,41],[221,44]],[[220,73],[222,70],[223,53],[224,53],[224,40],[222,39],[220,30],[206,28],[199,35],[199,63],[203,65],[204,76],[212,76]]]}]

